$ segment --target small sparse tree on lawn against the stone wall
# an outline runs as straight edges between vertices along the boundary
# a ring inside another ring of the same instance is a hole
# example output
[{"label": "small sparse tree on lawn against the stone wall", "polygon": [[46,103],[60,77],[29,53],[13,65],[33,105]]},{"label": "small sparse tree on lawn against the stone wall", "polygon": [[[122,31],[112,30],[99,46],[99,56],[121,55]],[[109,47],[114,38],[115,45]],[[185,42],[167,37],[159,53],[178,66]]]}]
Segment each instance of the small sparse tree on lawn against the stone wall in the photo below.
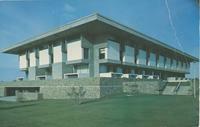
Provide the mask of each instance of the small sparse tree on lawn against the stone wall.
[{"label": "small sparse tree on lawn against the stone wall", "polygon": [[71,91],[68,93],[68,96],[75,100],[75,103],[81,104],[81,99],[84,97],[86,91],[83,86],[73,86],[71,87]]}]

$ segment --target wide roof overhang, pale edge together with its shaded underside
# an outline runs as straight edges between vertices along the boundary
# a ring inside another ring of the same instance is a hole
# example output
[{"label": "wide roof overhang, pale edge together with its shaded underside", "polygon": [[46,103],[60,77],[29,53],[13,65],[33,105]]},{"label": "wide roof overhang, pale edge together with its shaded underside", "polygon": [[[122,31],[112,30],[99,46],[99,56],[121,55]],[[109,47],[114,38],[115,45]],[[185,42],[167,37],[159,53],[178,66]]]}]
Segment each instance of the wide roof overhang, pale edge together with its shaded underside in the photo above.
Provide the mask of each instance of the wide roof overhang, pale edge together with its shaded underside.
[{"label": "wide roof overhang, pale edge together with its shaded underside", "polygon": [[[101,31],[102,26],[109,26],[109,28],[117,29],[121,33],[129,34],[130,36],[138,37],[143,40],[146,40],[149,44],[153,44],[156,46],[159,46],[161,48],[165,48],[169,51],[172,51],[174,53],[178,53],[181,56],[187,57],[193,62],[198,62],[199,59],[191,56],[183,51],[180,51],[172,46],[169,46],[159,40],[156,40],[152,37],[149,37],[147,35],[144,35],[138,31],[133,30],[132,28],[129,28],[127,26],[124,26],[116,21],[113,21],[109,18],[106,18],[100,14],[92,14],[83,18],[80,18],[78,20],[75,20],[69,24],[66,24],[64,26],[58,27],[52,31],[49,31],[47,33],[41,34],[39,36],[27,39],[23,42],[20,42],[18,44],[15,44],[11,47],[8,47],[6,49],[3,49],[2,53],[9,53],[9,54],[19,54],[19,51],[22,49],[29,48],[31,46],[36,46],[44,42],[48,42],[50,40],[63,37],[64,35],[70,35],[73,33],[77,33],[77,31],[85,31],[86,29],[94,29],[97,27],[99,31]],[[105,30],[105,29],[104,29]],[[89,30],[88,30],[89,31]],[[92,31],[94,32],[94,31]],[[115,31],[116,32],[116,31]]]}]

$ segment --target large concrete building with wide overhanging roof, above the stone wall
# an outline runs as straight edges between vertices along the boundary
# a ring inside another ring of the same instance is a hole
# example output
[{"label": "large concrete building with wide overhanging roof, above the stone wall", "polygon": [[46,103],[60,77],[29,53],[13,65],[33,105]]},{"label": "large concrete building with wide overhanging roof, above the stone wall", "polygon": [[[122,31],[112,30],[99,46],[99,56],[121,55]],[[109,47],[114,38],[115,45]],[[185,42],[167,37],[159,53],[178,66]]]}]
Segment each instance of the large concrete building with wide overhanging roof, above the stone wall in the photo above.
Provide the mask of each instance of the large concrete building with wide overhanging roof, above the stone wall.
[{"label": "large concrete building with wide overhanging roof, above the stone wall", "polygon": [[2,51],[19,56],[28,80],[75,77],[185,77],[195,58],[99,14]]}]

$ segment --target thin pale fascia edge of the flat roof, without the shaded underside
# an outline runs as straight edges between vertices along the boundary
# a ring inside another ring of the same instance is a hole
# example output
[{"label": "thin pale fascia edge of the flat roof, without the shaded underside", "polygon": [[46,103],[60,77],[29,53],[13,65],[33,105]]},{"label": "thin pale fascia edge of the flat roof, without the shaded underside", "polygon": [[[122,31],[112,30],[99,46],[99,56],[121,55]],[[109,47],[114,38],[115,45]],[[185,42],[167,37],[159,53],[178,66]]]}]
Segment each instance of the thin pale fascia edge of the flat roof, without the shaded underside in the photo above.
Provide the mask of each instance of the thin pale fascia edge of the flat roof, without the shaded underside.
[{"label": "thin pale fascia edge of the flat roof, without the shaded underside", "polygon": [[125,31],[127,33],[130,33],[131,35],[134,35],[134,36],[137,36],[137,37],[140,37],[140,38],[143,38],[147,41],[149,41],[149,43],[152,43],[152,44],[155,44],[155,45],[158,45],[158,46],[161,46],[161,47],[164,47],[170,51],[173,51],[175,53],[178,53],[184,57],[187,57],[189,59],[191,59],[192,61],[194,62],[198,62],[199,61],[199,58],[196,58],[190,54],[187,54],[179,49],[176,49],[170,45],[167,45],[157,39],[154,39],[152,37],[149,37],[143,33],[140,33],[130,27],[127,27],[125,25],[122,25],[114,20],[111,20],[107,17],[104,17],[98,13],[95,13],[95,14],[92,14],[92,15],[89,15],[89,16],[85,16],[85,17],[82,17],[80,19],[77,19],[71,23],[68,23],[66,25],[63,25],[61,27],[58,27],[54,30],[51,30],[49,32],[46,32],[44,34],[41,34],[39,36],[35,36],[35,37],[32,37],[32,38],[29,38],[27,40],[24,40],[20,43],[17,43],[13,46],[10,46],[8,48],[5,48],[3,50],[1,50],[2,53],[9,53],[9,54],[17,54],[17,51],[20,50],[20,48],[26,46],[26,45],[32,45],[32,44],[36,44],[36,43],[39,43],[39,41],[41,41],[42,39],[44,38],[50,38],[52,36],[55,36],[55,34],[58,34],[58,33],[61,33],[61,32],[64,32],[64,31],[67,31],[69,29],[72,29],[72,28],[75,28],[75,27],[78,27],[78,26],[81,26],[81,25],[84,25],[84,24],[87,24],[87,23],[91,23],[93,21],[100,21],[100,22],[103,22],[111,27],[114,27],[114,28],[117,28],[117,29],[120,29],[122,31]]}]

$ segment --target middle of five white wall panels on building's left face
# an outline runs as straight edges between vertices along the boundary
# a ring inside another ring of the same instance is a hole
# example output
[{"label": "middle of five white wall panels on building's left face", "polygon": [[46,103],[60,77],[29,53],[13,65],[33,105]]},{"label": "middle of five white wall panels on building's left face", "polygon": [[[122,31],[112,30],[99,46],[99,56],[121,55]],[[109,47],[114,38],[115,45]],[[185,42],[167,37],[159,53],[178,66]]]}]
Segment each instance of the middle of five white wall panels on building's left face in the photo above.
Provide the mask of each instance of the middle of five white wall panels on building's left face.
[{"label": "middle of five white wall panels on building's left face", "polygon": [[50,64],[50,55],[48,49],[39,51],[39,65]]}]

